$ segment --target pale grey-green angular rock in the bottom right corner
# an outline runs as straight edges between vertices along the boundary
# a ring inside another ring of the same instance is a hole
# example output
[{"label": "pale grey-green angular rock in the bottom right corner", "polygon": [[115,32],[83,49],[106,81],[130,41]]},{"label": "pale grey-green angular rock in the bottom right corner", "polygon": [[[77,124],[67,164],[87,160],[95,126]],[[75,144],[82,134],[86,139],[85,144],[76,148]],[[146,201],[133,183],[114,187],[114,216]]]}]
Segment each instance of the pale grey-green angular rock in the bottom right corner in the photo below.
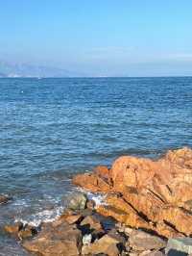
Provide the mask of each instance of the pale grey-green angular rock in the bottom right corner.
[{"label": "pale grey-green angular rock in the bottom right corner", "polygon": [[[192,253],[192,238],[177,238],[177,239],[169,239],[165,252],[166,254],[173,253],[174,251],[182,252],[185,254]],[[174,254],[172,254],[174,255]],[[177,255],[177,254],[176,254]]]}]

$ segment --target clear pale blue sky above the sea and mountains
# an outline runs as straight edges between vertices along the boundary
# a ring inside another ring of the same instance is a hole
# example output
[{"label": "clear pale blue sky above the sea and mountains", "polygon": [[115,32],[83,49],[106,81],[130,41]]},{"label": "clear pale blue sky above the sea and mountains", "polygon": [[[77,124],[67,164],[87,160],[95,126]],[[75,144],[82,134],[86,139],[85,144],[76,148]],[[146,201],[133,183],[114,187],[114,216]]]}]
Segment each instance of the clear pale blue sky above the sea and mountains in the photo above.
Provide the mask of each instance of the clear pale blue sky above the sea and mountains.
[{"label": "clear pale blue sky above the sea and mountains", "polygon": [[0,61],[86,76],[192,75],[191,0],[0,0]]}]

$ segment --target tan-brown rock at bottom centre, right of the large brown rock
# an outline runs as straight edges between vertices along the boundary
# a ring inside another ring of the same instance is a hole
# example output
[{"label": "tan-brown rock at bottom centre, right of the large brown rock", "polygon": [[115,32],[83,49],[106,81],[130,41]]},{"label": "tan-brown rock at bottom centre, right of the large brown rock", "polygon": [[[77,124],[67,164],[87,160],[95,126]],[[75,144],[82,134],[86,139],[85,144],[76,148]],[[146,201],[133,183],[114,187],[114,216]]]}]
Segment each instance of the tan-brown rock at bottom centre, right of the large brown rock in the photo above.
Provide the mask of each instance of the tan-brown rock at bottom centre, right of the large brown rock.
[{"label": "tan-brown rock at bottom centre, right of the large brown rock", "polygon": [[120,251],[117,247],[118,241],[105,235],[100,240],[95,241],[89,245],[84,245],[82,248],[83,255],[97,255],[104,253],[108,256],[118,256]]}]

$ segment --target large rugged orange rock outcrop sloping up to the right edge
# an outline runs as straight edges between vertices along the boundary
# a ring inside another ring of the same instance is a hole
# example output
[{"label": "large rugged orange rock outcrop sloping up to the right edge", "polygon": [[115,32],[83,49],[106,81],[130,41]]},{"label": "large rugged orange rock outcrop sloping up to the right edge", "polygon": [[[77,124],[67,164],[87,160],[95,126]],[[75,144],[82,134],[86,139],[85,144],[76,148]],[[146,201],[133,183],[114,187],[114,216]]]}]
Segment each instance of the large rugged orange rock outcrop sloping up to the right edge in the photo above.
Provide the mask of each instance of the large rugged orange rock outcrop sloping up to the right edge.
[{"label": "large rugged orange rock outcrop sloping up to the right edge", "polygon": [[150,159],[123,156],[110,169],[99,166],[73,183],[91,192],[107,192],[97,211],[132,227],[166,238],[192,235],[192,149],[168,151]]}]

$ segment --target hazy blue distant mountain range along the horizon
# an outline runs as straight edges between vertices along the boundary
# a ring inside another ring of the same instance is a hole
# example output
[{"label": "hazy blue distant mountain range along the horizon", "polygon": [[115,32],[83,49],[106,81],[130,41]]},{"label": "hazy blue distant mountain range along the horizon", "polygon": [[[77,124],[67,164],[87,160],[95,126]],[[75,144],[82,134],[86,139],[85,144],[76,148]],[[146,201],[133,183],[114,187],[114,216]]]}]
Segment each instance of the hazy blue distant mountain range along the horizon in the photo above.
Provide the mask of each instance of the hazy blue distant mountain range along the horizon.
[{"label": "hazy blue distant mountain range along the horizon", "polygon": [[34,65],[7,64],[0,62],[0,77],[77,77],[82,76],[62,68]]}]

